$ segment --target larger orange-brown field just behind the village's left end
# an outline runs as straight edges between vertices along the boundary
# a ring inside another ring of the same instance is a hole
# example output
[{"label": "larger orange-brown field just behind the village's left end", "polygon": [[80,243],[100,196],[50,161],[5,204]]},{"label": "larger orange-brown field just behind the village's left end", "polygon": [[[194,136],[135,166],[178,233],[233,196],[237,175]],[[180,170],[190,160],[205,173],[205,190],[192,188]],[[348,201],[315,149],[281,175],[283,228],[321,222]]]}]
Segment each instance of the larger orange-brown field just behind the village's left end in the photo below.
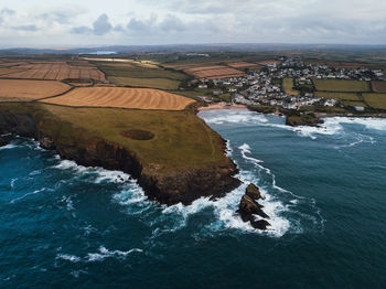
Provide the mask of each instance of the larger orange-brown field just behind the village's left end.
[{"label": "larger orange-brown field just behind the village's left end", "polygon": [[229,78],[245,76],[245,73],[222,65],[194,67],[184,71],[186,74],[201,79]]}]

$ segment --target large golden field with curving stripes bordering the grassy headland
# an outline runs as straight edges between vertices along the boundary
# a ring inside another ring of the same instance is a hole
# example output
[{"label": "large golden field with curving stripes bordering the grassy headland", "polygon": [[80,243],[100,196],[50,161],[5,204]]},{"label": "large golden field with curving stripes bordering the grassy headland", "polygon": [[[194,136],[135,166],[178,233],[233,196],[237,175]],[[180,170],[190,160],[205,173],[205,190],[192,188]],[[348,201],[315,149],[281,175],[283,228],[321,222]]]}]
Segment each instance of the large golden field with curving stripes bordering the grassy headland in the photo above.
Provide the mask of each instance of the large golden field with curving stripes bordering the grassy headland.
[{"label": "large golden field with curving stripes bordering the grassy headland", "polygon": [[75,107],[117,107],[138,109],[182,110],[193,99],[148,88],[85,87],[44,99],[43,103]]}]

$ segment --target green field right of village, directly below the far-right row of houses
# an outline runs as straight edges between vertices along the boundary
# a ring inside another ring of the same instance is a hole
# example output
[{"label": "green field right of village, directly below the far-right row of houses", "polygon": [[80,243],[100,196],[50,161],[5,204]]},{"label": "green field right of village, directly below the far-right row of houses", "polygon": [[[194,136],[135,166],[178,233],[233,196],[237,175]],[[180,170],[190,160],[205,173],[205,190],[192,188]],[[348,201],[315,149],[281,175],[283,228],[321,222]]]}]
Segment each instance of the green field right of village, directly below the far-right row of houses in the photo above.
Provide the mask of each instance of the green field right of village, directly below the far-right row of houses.
[{"label": "green field right of village, directly below the far-right row of houses", "polygon": [[341,79],[313,79],[317,90],[321,92],[345,92],[345,93],[361,93],[371,92],[367,82],[360,81],[341,81]]}]

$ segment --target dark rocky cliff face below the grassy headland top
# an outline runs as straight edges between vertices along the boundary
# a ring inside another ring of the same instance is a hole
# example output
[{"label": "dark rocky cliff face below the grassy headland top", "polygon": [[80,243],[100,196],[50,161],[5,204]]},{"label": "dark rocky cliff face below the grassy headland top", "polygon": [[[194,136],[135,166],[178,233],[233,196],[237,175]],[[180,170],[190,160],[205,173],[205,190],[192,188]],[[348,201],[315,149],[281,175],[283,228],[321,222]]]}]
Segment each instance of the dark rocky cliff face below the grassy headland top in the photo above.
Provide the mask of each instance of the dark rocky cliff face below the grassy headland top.
[{"label": "dark rocky cliff face below the grassy headland top", "polygon": [[146,194],[168,205],[182,202],[190,204],[201,196],[221,196],[237,188],[236,165],[204,169],[168,169],[162,165],[142,165],[139,158],[117,143],[109,142],[92,132],[63,122],[44,111],[14,113],[0,108],[0,135],[17,133],[35,138],[45,149],[56,150],[63,159],[86,167],[121,170],[139,181]]}]

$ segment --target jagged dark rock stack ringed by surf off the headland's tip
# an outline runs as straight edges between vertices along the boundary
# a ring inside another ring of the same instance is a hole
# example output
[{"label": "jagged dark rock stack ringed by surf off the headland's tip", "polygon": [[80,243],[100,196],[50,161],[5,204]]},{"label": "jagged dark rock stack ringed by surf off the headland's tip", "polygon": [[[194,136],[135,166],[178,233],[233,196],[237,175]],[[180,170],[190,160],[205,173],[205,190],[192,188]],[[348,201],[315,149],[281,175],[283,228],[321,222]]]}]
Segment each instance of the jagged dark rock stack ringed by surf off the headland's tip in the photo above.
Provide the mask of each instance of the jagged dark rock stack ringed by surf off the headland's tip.
[{"label": "jagged dark rock stack ringed by surf off the headland's tip", "polygon": [[[249,184],[242,197],[238,213],[244,222],[249,222],[254,228],[267,229],[270,224],[265,220],[269,216],[262,211],[262,205],[258,203],[258,200],[262,200],[260,190],[255,184]],[[256,220],[256,216],[260,216],[260,220]]]}]

